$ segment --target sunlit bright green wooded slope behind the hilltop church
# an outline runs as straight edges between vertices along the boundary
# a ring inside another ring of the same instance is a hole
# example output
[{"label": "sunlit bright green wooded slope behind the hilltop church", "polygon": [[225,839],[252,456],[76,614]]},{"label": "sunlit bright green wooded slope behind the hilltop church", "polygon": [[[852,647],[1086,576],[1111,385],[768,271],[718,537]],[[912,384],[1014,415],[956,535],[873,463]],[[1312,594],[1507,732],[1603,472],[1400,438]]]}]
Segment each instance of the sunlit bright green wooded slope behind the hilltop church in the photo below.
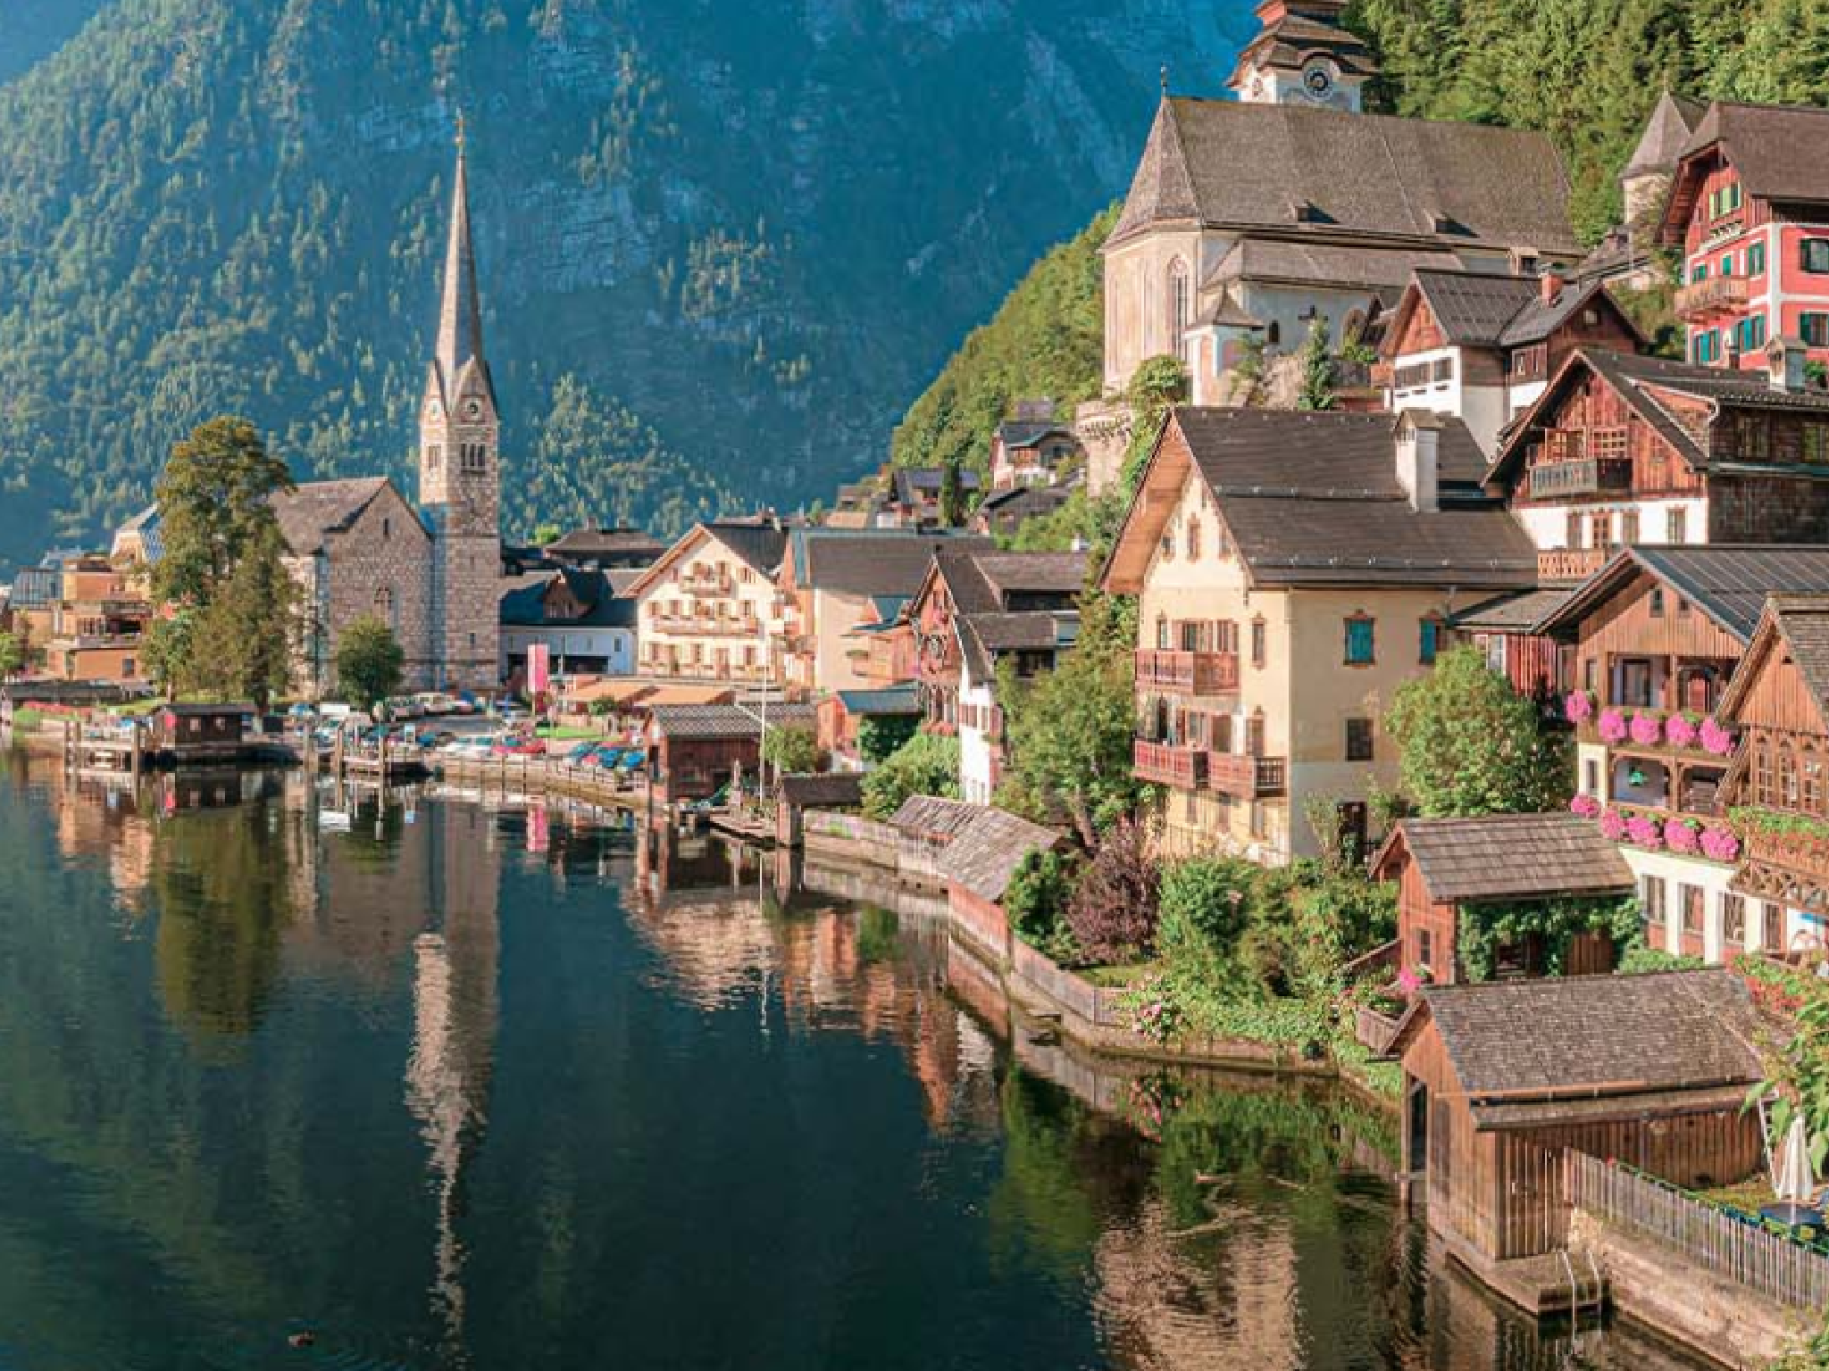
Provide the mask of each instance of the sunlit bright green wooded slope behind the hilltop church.
[{"label": "sunlit bright green wooded slope behind the hilltop church", "polygon": [[[1829,104],[1824,0],[1357,0],[1348,22],[1383,66],[1375,108],[1547,132],[1588,241],[1619,221],[1619,172],[1664,86],[1697,99]],[[1013,400],[1097,393],[1097,247],[1112,221],[1101,214],[1037,261],[966,340],[896,430],[898,464],[982,466]],[[1628,302],[1653,335],[1666,322],[1657,303]]]}]

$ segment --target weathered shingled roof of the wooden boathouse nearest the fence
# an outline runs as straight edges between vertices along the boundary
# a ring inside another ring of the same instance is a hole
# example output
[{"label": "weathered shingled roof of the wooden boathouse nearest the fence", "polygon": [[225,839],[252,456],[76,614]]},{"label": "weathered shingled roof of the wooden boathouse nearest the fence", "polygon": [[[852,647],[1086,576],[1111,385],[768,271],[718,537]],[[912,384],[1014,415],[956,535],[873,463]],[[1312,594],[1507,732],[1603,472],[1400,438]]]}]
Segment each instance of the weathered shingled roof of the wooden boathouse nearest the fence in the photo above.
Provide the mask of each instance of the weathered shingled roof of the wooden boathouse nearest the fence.
[{"label": "weathered shingled roof of the wooden boathouse nearest the fence", "polygon": [[1752,996],[1721,967],[1425,989],[1394,1049],[1430,1020],[1481,1130],[1732,1108],[1765,1075]]}]

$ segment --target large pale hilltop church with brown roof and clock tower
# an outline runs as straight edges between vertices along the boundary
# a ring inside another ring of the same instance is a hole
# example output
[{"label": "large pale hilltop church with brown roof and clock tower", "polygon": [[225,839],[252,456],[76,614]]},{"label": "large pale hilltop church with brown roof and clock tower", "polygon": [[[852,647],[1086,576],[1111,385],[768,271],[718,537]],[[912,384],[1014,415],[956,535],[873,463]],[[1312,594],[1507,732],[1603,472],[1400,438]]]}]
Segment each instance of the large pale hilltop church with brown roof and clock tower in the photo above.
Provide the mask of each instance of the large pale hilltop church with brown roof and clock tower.
[{"label": "large pale hilltop church with brown roof and clock tower", "polygon": [[1580,260],[1540,133],[1363,112],[1346,0],[1262,0],[1233,99],[1171,97],[1105,243],[1105,388],[1172,355],[1220,402],[1255,342],[1339,345],[1423,269],[1535,276]]}]

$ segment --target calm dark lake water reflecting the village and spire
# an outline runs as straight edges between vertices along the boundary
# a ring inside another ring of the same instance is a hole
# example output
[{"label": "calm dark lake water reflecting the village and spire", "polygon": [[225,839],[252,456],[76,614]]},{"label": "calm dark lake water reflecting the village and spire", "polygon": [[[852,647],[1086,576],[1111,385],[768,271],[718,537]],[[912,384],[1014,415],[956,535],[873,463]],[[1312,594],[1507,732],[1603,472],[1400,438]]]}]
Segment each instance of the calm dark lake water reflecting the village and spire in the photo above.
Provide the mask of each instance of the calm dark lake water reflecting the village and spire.
[{"label": "calm dark lake water reflecting the village and spire", "polygon": [[318,810],[0,759],[0,1367],[1688,1366],[1445,1270],[1379,1111],[1011,1042],[775,857]]}]

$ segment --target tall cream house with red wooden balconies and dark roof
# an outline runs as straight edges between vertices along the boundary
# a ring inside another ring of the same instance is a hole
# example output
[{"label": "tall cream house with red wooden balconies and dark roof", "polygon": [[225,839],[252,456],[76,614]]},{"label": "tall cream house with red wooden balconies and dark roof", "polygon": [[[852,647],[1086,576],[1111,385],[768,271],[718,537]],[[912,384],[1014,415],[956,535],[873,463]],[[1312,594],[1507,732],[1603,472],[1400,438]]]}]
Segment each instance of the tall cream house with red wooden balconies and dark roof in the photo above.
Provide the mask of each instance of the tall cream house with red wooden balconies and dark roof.
[{"label": "tall cream house with red wooden balconies and dark roof", "polygon": [[1535,585],[1467,426],[1180,408],[1105,570],[1139,598],[1136,773],[1174,854],[1315,856],[1397,788],[1385,713],[1460,605]]}]

